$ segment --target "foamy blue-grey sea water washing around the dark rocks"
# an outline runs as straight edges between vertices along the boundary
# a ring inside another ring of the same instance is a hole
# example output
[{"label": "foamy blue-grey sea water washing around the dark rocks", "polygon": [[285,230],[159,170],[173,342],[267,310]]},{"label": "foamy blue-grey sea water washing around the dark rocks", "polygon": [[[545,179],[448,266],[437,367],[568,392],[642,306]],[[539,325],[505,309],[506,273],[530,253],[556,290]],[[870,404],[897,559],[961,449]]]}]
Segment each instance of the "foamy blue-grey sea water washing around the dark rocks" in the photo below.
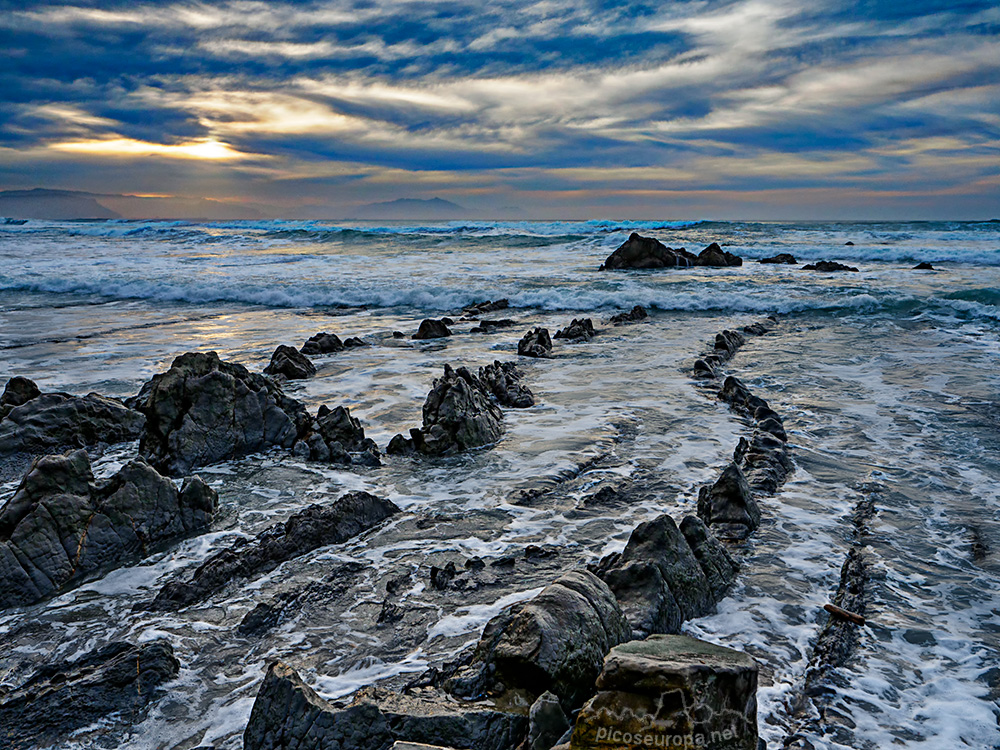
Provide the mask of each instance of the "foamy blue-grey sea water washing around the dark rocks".
[{"label": "foamy blue-grey sea water washing around the dark rocks", "polygon": [[[719,242],[744,263],[598,271],[631,232],[694,252]],[[860,270],[756,262],[782,252]],[[588,343],[557,342],[551,360],[521,358],[537,405],[507,410],[495,446],[372,469],[281,452],[201,469],[220,495],[211,532],[0,612],[0,685],[112,640],[174,645],[180,675],[142,716],[109,717],[61,747],[235,750],[271,661],[328,698],[395,684],[454,658],[506,604],[622,549],[639,522],[693,513],[745,428],[695,386],[691,364],[716,332],[765,315],[776,330],[726,371],[783,416],[795,471],[762,499],[731,595],[685,632],[759,661],[769,747],[794,736],[815,748],[1000,747],[1000,223],[29,221],[0,225],[0,257],[4,380],[126,397],[183,352],[214,350],[259,372],[278,344],[360,336],[373,345],[316,357],[316,377],[286,391],[312,411],[348,406],[383,449],[419,425],[445,363],[518,359],[536,325],[589,317],[598,328]],[[936,270],[913,270],[921,261]],[[510,307],[491,317],[515,326],[480,335],[458,320],[463,306],[500,298]],[[647,320],[606,323],[637,304]],[[409,338],[443,315],[456,335]],[[95,472],[135,451],[116,446]],[[616,482],[640,487],[641,500],[580,505]],[[16,485],[0,486],[0,503]],[[521,494],[539,488],[552,492]],[[133,611],[234,539],[354,489],[405,513],[204,604]],[[803,680],[863,503],[874,507],[862,540],[874,569],[868,624],[820,716]],[[529,560],[528,545],[544,554]],[[513,572],[491,585],[429,583],[431,565],[510,555]],[[407,573],[404,619],[379,623],[386,581]],[[263,636],[239,633],[282,593],[294,601],[284,619]]]}]

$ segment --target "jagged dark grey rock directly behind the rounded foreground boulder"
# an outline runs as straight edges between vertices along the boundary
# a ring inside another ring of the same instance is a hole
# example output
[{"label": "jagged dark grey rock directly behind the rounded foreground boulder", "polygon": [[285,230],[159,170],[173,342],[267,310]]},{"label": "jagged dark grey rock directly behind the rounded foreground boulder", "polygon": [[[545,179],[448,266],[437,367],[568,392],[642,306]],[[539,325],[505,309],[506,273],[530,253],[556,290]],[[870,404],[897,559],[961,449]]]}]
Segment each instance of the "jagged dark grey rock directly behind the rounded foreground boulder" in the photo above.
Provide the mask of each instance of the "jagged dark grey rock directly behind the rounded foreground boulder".
[{"label": "jagged dark grey rock directly behind the rounded foreground boulder", "polygon": [[614,592],[636,638],[676,633],[684,620],[715,608],[698,559],[668,515],[639,524],[624,551],[602,559],[594,572]]}]

